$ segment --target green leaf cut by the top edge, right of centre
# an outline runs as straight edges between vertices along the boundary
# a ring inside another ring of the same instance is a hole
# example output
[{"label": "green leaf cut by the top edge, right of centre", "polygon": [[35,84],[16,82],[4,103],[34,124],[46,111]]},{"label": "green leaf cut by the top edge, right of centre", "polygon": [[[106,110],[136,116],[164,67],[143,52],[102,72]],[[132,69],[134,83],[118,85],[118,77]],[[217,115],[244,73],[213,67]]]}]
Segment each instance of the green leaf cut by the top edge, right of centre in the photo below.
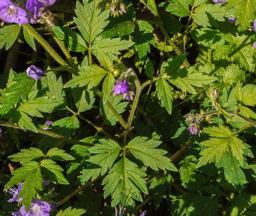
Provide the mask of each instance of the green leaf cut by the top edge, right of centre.
[{"label": "green leaf cut by the top edge, right of centre", "polygon": [[171,12],[178,17],[187,17],[190,13],[187,0],[174,0],[169,3],[163,2],[160,3],[160,6],[166,8],[167,12]]}]

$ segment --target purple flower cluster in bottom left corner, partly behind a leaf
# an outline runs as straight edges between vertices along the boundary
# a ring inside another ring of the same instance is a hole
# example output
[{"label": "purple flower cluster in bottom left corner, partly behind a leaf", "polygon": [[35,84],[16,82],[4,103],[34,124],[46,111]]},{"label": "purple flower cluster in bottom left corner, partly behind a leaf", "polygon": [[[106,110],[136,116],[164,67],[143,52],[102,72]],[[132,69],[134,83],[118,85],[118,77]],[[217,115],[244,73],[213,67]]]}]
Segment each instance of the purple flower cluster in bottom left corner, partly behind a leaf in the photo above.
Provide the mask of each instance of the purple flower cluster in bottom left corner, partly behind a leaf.
[{"label": "purple flower cluster in bottom left corner, partly behind a leaf", "polygon": [[[50,182],[49,180],[44,180],[42,187],[47,186]],[[22,202],[23,197],[18,199],[19,193],[22,191],[22,186],[23,182],[19,183],[18,188],[9,187],[7,189],[7,192],[12,196],[8,202]],[[11,214],[16,216],[49,216],[51,209],[56,209],[56,205],[42,202],[38,198],[33,198],[28,213],[26,213],[25,206],[23,205],[18,212],[11,212]]]}]

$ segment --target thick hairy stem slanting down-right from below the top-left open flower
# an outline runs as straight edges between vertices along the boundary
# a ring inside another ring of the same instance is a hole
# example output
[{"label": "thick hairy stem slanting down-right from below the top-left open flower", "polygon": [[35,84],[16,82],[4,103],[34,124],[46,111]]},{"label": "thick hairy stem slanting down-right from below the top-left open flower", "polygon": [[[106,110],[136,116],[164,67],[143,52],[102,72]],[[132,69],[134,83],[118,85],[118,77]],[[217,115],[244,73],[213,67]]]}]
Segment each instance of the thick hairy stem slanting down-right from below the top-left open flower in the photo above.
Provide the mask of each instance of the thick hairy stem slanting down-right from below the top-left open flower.
[{"label": "thick hairy stem slanting down-right from below the top-left open flower", "polygon": [[49,54],[53,56],[54,59],[58,61],[62,66],[67,66],[68,64],[64,61],[61,56],[59,56],[55,50],[39,35],[29,24],[24,24],[23,28],[33,35],[34,38],[43,46],[44,49],[47,50]]}]

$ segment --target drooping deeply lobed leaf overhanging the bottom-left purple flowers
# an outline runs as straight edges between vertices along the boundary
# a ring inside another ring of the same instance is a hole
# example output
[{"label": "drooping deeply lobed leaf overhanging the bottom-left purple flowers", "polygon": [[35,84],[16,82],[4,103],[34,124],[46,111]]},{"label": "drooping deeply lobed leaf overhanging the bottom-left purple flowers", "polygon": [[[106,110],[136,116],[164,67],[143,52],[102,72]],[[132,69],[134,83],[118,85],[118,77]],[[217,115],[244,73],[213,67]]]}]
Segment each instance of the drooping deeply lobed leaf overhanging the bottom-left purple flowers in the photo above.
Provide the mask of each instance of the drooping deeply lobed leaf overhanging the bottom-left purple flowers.
[{"label": "drooping deeply lobed leaf overhanging the bottom-left purple flowers", "polygon": [[36,161],[29,161],[22,164],[23,167],[16,169],[12,174],[13,177],[6,184],[4,189],[9,186],[18,184],[24,181],[22,191],[19,193],[19,198],[23,197],[22,204],[25,205],[26,212],[32,203],[32,197],[36,197],[36,189],[42,190],[43,177],[41,174],[40,164]]}]

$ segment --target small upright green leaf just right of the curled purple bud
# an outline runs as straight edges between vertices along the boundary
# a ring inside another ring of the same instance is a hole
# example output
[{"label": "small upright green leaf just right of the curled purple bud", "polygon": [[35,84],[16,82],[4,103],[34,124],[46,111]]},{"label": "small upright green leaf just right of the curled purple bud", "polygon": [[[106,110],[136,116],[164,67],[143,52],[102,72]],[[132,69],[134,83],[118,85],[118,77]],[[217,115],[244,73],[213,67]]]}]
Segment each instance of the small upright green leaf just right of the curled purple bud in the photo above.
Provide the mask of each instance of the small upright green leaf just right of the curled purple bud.
[{"label": "small upright green leaf just right of the curled purple bud", "polygon": [[49,91],[47,96],[53,100],[63,101],[65,97],[65,92],[63,91],[63,84],[61,76],[57,80],[57,77],[52,71],[47,73],[47,81],[49,86]]}]

